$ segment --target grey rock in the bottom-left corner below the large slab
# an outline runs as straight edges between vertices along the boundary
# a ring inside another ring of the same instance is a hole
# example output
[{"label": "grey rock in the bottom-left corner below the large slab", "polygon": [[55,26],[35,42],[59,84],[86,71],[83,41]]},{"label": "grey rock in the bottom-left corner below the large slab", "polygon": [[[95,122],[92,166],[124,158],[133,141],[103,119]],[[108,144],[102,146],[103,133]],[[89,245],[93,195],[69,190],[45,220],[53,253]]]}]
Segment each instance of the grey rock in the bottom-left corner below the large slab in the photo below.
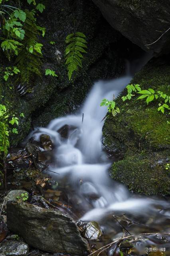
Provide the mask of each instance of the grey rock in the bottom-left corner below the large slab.
[{"label": "grey rock in the bottom-left corner below the large slab", "polygon": [[25,256],[29,252],[28,244],[16,240],[8,240],[0,244],[0,256]]}]

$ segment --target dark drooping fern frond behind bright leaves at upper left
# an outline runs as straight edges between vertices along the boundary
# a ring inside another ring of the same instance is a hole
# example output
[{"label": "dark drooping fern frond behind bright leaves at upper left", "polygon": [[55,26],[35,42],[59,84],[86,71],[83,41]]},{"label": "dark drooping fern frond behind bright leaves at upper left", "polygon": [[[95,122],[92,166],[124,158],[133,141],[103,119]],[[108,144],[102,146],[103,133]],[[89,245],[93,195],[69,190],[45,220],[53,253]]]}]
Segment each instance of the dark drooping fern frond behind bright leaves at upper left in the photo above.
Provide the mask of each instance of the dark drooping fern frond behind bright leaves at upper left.
[{"label": "dark drooping fern frond behind bright leaves at upper left", "polygon": [[[22,83],[29,84],[36,75],[41,76],[42,67],[42,44],[39,44],[38,34],[39,28],[36,25],[36,18],[34,17],[34,12],[28,10],[26,12],[26,20],[24,23],[25,37],[22,41],[23,47],[18,52],[15,64],[20,70],[20,77],[18,80]],[[37,45],[40,45],[37,47]]]}]

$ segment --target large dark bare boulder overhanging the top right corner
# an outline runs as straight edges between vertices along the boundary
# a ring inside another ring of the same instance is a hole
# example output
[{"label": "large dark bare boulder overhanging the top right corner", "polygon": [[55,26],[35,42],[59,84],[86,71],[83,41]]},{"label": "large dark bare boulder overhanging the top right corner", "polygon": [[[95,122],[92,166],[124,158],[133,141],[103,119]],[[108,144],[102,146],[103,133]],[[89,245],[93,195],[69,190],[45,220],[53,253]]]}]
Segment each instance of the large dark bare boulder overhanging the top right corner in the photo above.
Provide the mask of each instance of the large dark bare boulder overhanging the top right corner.
[{"label": "large dark bare boulder overhanging the top right corner", "polygon": [[[143,50],[152,50],[156,53],[170,51],[169,0],[93,0],[93,2],[113,28]],[[164,32],[166,33],[162,36]],[[162,36],[160,40],[155,42],[160,36]],[[153,42],[155,43],[152,44]]]}]

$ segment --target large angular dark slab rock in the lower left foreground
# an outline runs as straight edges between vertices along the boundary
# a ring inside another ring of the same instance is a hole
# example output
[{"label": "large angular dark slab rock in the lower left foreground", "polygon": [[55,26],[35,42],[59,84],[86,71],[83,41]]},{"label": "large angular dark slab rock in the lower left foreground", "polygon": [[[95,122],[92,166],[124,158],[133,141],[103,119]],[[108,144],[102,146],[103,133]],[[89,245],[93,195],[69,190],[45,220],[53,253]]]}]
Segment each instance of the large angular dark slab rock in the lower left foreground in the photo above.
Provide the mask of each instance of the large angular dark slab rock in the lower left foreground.
[{"label": "large angular dark slab rock in the lower left foreground", "polygon": [[89,253],[73,219],[58,210],[8,202],[7,220],[8,228],[34,248],[80,256]]}]

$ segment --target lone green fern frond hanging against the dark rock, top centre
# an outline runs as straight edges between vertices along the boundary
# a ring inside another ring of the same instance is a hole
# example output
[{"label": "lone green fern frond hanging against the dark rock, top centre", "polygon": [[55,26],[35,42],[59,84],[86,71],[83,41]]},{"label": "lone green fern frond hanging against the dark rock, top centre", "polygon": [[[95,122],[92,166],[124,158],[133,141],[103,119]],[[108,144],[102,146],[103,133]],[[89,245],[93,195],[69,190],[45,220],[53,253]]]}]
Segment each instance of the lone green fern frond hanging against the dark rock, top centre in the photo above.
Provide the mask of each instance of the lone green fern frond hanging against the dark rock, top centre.
[{"label": "lone green fern frond hanging against the dark rock, top centre", "polygon": [[65,43],[68,45],[65,49],[65,64],[67,65],[69,80],[73,72],[78,71],[78,67],[82,68],[82,53],[87,53],[84,49],[87,48],[85,38],[86,36],[81,32],[75,32],[66,37]]}]

